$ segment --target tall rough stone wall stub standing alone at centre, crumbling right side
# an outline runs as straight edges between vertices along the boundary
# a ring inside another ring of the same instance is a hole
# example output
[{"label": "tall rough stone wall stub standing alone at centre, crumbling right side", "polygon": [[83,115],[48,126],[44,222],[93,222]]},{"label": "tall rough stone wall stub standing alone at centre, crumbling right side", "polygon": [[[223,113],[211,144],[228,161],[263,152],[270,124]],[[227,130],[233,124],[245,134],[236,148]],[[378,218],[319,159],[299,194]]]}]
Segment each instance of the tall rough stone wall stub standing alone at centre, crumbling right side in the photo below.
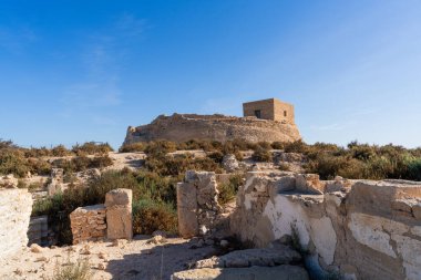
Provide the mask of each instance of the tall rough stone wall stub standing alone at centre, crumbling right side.
[{"label": "tall rough stone wall stub standing alone at centre, crumbling right side", "polygon": [[177,184],[178,231],[182,237],[203,236],[217,229],[222,220],[217,196],[215,173],[186,173],[184,182]]}]

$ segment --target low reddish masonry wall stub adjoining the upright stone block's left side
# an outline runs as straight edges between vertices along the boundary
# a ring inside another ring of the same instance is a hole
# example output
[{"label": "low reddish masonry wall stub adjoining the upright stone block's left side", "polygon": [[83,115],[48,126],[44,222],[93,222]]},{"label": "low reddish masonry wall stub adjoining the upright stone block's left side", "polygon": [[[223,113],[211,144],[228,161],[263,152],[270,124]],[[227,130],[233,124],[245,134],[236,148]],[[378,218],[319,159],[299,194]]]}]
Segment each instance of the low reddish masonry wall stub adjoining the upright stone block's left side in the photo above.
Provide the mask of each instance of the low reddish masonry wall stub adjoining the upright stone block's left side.
[{"label": "low reddish masonry wall stub adjoining the upright stone block's left side", "polygon": [[74,245],[106,237],[105,207],[102,204],[76,208],[70,214],[70,222]]}]

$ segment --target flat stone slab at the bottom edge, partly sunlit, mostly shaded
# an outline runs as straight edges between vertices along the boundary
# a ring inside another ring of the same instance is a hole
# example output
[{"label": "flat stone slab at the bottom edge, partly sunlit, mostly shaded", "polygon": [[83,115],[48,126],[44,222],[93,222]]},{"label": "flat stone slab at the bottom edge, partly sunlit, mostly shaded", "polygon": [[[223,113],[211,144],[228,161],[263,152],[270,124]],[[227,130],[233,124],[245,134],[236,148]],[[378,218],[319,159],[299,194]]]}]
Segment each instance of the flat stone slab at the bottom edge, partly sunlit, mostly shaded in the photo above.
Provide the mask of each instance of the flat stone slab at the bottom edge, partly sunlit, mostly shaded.
[{"label": "flat stone slab at the bottom edge, partly sunlit, mostly shaded", "polygon": [[307,280],[301,267],[204,268],[176,272],[172,280]]}]

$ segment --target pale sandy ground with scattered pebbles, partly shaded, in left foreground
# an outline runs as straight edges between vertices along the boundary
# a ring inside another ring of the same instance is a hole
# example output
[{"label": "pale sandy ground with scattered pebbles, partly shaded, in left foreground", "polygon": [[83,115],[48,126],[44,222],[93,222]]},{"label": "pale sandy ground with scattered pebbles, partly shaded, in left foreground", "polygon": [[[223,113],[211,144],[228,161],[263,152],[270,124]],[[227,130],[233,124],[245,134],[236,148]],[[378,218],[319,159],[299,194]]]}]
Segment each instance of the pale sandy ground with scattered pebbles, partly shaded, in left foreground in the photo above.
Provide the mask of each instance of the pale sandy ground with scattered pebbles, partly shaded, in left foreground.
[{"label": "pale sandy ground with scattered pebbles, partly shaded, in left foreground", "polygon": [[88,258],[93,279],[166,280],[188,263],[213,256],[212,246],[192,249],[195,240],[170,238],[166,243],[150,242],[150,237],[136,236],[134,240],[89,242],[84,245],[42,248],[41,252],[24,249],[6,261],[0,261],[0,279],[49,279],[54,268],[66,262]]}]

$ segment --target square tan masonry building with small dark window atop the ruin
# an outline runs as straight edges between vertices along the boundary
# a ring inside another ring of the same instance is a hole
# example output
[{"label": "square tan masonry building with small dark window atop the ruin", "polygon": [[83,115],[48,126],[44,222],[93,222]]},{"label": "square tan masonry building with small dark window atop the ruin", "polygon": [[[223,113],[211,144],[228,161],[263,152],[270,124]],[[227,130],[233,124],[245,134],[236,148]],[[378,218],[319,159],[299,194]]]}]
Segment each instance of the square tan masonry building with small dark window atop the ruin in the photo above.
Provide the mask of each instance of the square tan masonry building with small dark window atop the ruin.
[{"label": "square tan masonry building with small dark window atop the ruin", "polygon": [[288,124],[295,123],[294,105],[277,98],[243,103],[243,113],[244,116],[255,116]]}]

